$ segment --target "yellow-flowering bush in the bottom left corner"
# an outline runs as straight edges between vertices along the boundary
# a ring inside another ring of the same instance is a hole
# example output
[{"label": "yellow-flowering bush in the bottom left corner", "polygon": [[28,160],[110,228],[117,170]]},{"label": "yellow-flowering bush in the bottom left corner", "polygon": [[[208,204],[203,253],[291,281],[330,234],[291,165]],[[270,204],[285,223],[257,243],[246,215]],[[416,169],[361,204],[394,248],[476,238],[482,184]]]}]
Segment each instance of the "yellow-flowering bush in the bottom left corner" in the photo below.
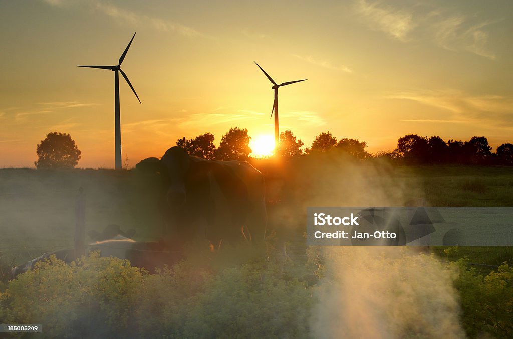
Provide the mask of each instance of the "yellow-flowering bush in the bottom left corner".
[{"label": "yellow-flowering bush in the bottom left corner", "polygon": [[130,333],[145,272],[128,260],[92,253],[66,265],[38,262],[0,294],[0,322],[43,324],[50,337],[116,337]]}]

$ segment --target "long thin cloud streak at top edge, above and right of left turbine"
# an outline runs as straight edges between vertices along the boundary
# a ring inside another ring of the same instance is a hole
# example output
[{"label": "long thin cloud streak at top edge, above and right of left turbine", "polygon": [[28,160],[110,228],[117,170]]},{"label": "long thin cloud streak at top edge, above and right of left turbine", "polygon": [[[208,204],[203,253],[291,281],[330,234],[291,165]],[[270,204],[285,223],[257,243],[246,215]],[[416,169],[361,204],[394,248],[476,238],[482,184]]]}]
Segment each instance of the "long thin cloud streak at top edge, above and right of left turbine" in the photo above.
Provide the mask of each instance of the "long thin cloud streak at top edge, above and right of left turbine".
[{"label": "long thin cloud streak at top edge, above and right of left turbine", "polygon": [[169,20],[163,20],[158,17],[153,17],[149,15],[137,14],[133,11],[129,11],[123,9],[121,7],[114,6],[112,4],[105,4],[102,2],[96,3],[96,9],[103,12],[106,15],[109,15],[116,20],[120,20],[122,22],[128,22],[129,24],[149,24],[153,28],[166,31],[166,32],[175,32],[185,36],[199,36],[203,35],[199,31],[194,28],[188,27],[186,25],[182,25],[177,22],[172,22]]}]

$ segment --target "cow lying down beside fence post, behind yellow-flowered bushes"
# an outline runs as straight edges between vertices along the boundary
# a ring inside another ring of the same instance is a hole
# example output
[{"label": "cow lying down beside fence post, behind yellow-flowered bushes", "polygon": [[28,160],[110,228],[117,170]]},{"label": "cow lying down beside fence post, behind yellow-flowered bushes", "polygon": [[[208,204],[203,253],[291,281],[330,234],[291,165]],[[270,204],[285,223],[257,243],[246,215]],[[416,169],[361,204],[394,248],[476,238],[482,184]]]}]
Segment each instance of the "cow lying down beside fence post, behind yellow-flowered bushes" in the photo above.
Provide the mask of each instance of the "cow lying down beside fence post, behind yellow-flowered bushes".
[{"label": "cow lying down beside fence post, behind yellow-flowered bushes", "polygon": [[[102,257],[128,259],[132,266],[144,268],[150,273],[155,273],[156,268],[170,267],[182,257],[181,252],[170,251],[162,241],[137,242],[119,234],[111,239],[91,243],[87,247],[87,252],[98,250]],[[51,255],[66,263],[75,260],[75,252],[72,249],[48,252],[24,265],[14,267],[11,271],[12,278],[31,270],[36,262],[48,259]]]}]

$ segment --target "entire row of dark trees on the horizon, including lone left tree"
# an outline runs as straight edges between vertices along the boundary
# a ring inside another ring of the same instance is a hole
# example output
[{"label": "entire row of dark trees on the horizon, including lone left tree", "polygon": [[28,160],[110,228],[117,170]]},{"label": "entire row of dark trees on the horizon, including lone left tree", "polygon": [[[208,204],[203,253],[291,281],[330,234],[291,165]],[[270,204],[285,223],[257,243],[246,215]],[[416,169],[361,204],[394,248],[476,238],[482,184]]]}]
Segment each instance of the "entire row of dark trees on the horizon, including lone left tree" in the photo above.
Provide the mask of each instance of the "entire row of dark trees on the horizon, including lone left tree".
[{"label": "entire row of dark trees on the horizon, including lone left tree", "polygon": [[[205,133],[193,139],[183,137],[176,146],[187,150],[189,155],[208,160],[248,161],[251,156],[249,142],[251,137],[246,128],[234,127],[222,137],[219,147],[214,144],[215,137]],[[387,158],[394,162],[411,165],[423,164],[479,164],[513,165],[513,144],[504,143],[495,153],[486,137],[472,137],[468,141],[448,140],[433,137],[419,137],[409,134],[399,138],[397,148],[376,154],[368,153],[367,143],[357,139],[337,140],[329,131],[320,133],[310,147],[302,149],[304,143],[290,130],[280,134],[280,144],[274,156],[297,158],[313,154],[340,153],[355,159]],[[37,168],[73,168],[81,157],[75,142],[69,134],[49,133],[46,139],[37,144]]]}]

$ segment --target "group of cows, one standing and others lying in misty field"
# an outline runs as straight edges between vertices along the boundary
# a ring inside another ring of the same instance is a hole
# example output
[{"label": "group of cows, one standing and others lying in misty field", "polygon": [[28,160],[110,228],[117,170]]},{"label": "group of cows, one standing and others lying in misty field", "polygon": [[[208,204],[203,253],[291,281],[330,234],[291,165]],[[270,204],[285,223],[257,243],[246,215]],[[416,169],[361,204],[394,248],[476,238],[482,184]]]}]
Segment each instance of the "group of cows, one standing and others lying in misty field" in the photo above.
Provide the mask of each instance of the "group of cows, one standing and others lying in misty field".
[{"label": "group of cows, one standing and others lying in misty field", "polygon": [[[138,242],[132,239],[134,230],[108,225],[102,232],[88,232],[93,242],[87,252],[128,259],[132,266],[154,272],[180,260],[186,242],[206,239],[212,250],[227,242],[263,246],[267,225],[264,177],[250,164],[205,160],[172,147],[160,160],[141,161],[136,170],[161,177],[164,240]],[[14,267],[12,277],[52,255],[66,263],[76,258],[73,249],[48,252]]]}]

